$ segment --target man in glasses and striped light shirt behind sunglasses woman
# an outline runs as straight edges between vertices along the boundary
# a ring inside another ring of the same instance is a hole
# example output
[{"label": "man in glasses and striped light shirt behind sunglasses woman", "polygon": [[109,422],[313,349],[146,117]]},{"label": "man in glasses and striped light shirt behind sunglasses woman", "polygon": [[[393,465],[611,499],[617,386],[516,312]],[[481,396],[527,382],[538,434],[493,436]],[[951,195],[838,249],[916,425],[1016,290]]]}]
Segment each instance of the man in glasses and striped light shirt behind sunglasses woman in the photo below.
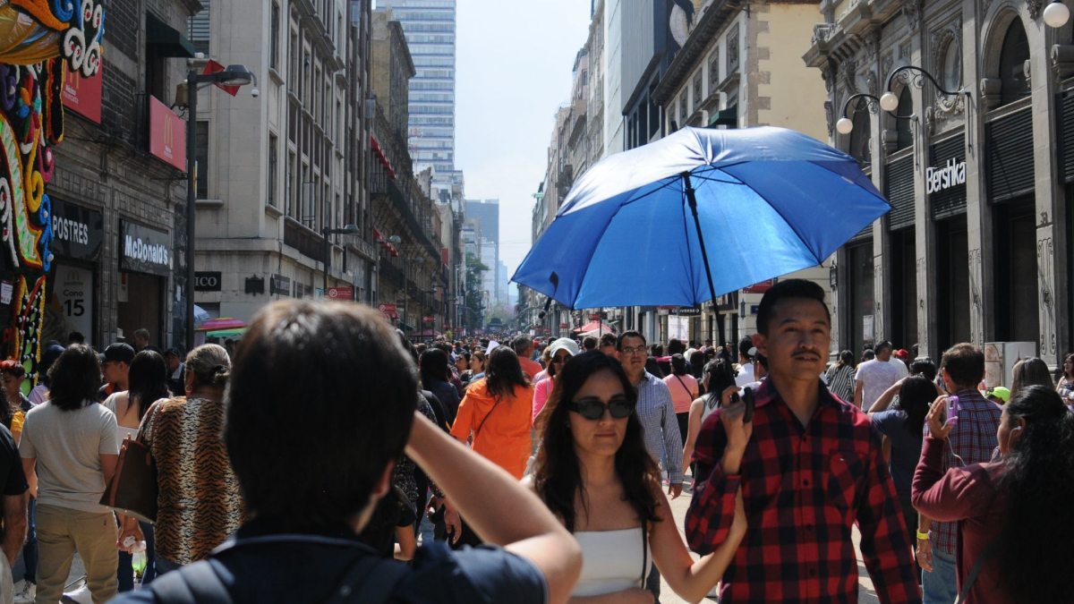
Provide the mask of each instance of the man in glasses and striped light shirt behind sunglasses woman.
[{"label": "man in glasses and striped light shirt behind sunglasses woman", "polygon": [[[645,359],[649,348],[645,336],[637,331],[625,331],[619,336],[619,362],[623,364],[626,376],[638,389],[638,419],[645,437],[645,448],[649,455],[661,464],[668,475],[668,494],[674,499],[682,494],[682,435],[676,421],[674,406],[671,404],[671,391],[667,384],[645,371]],[[661,574],[653,566],[645,589],[659,601]]]}]

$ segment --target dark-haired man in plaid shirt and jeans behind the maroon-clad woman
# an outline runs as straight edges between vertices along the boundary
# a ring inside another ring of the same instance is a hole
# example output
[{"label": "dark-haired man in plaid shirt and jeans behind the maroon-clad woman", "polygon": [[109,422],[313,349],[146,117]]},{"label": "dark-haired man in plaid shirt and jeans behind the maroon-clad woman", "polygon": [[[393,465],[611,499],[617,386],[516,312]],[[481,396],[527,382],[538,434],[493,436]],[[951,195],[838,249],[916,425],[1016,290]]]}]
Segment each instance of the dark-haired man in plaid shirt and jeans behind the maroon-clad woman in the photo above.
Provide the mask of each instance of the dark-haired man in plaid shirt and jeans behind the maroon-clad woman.
[{"label": "dark-haired man in plaid shirt and jeans behind the maroon-clad woman", "polygon": [[[943,472],[973,463],[984,463],[996,449],[996,433],[1003,409],[985,399],[977,385],[985,376],[985,354],[973,344],[956,344],[940,360],[944,391],[958,396],[958,423],[946,433],[941,457]],[[925,425],[925,434],[930,427]],[[917,508],[917,562],[923,569],[921,588],[926,602],[955,602],[958,596],[958,524],[933,522]]]}]

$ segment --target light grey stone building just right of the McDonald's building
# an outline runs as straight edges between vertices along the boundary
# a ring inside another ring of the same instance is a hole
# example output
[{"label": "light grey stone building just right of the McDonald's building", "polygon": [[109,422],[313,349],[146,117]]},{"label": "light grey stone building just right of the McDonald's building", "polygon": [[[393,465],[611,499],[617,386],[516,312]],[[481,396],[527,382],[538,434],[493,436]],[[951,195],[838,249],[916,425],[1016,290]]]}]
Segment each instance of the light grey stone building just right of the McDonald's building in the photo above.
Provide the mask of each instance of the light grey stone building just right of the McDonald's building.
[{"label": "light grey stone building just right of the McDonald's building", "polygon": [[[260,92],[199,91],[195,300],[209,315],[249,320],[325,281],[376,301],[369,24],[368,3],[345,0],[215,1],[191,23]],[[325,235],[348,225],[358,234]]]}]

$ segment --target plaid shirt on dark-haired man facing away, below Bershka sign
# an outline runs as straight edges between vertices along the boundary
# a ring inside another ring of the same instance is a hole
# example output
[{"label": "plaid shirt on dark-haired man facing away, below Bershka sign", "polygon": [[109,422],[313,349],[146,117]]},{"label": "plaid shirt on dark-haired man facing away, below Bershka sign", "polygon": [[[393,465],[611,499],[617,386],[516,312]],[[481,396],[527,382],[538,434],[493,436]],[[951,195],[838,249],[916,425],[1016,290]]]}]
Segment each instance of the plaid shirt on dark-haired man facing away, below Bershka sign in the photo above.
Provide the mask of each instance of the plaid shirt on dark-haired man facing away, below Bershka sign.
[{"label": "plaid shirt on dark-haired man facing away, below Bershka sign", "polygon": [[[985,399],[976,388],[958,392],[958,423],[947,435],[947,446],[943,452],[943,471],[963,468],[972,463],[985,463],[992,459],[996,450],[996,431],[1000,427],[1003,407]],[[925,437],[929,435],[929,425],[925,425]],[[955,455],[962,458],[961,461]],[[929,531],[932,547],[955,556],[958,547],[958,522],[932,522]]]}]

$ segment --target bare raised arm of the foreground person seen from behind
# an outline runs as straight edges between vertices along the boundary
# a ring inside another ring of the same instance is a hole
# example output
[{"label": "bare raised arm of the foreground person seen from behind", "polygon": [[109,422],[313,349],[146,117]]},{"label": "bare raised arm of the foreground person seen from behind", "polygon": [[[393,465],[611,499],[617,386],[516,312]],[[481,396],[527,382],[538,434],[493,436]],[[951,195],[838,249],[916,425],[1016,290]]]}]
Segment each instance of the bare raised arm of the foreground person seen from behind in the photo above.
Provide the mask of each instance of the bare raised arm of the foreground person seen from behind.
[{"label": "bare raised arm of the foreground person seen from behind", "polygon": [[421,414],[415,414],[406,454],[436,480],[482,541],[533,562],[545,575],[550,602],[567,600],[581,572],[581,548],[537,495]]}]

